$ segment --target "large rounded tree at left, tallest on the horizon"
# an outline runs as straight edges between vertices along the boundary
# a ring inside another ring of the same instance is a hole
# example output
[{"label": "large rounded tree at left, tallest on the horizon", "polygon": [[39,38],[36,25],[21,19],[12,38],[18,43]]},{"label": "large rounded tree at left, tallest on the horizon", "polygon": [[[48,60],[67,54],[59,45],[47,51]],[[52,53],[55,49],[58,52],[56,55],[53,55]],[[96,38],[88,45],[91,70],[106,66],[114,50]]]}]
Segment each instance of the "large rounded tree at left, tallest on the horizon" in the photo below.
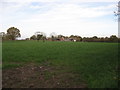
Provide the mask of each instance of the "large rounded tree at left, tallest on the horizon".
[{"label": "large rounded tree at left, tallest on the horizon", "polygon": [[15,40],[17,37],[21,37],[20,30],[15,27],[10,27],[7,30],[7,36],[10,40]]}]

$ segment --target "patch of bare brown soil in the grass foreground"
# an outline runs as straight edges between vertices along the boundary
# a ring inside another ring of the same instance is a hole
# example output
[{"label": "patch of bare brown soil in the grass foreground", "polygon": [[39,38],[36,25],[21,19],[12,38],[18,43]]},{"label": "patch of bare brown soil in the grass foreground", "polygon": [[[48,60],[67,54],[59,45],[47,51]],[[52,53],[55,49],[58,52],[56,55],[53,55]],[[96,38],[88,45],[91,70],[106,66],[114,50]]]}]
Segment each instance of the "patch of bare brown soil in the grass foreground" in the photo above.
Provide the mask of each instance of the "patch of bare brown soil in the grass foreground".
[{"label": "patch of bare brown soil in the grass foreground", "polygon": [[2,71],[3,88],[87,88],[83,80],[76,80],[70,72],[51,66],[27,64]]}]

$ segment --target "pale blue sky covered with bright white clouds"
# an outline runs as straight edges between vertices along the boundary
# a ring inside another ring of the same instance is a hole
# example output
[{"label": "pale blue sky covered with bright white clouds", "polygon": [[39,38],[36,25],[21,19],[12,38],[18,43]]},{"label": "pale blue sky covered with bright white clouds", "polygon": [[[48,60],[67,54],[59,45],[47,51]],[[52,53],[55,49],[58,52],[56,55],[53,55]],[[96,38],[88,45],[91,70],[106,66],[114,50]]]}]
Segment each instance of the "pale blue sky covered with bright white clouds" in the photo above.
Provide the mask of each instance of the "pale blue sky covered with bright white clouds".
[{"label": "pale blue sky covered with bright white clouds", "polygon": [[66,36],[105,37],[118,35],[117,10],[119,0],[0,0],[1,27],[17,27],[21,38],[35,32]]}]

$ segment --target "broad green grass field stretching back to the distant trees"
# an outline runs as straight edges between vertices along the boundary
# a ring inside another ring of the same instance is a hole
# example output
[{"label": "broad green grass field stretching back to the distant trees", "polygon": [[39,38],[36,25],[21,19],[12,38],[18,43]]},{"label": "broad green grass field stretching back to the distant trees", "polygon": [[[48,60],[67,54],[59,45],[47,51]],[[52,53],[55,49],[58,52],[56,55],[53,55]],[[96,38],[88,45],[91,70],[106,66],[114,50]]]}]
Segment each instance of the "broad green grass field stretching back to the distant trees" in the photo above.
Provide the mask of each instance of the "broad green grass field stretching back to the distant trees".
[{"label": "broad green grass field stretching back to the distant trees", "polygon": [[[47,81],[53,75],[57,77],[62,74],[59,83],[63,84],[58,87],[79,85],[81,82],[84,82],[88,88],[118,86],[117,43],[6,41],[2,46],[4,72],[34,63],[36,66],[51,68],[44,72]],[[68,86],[64,84],[66,78]]]}]

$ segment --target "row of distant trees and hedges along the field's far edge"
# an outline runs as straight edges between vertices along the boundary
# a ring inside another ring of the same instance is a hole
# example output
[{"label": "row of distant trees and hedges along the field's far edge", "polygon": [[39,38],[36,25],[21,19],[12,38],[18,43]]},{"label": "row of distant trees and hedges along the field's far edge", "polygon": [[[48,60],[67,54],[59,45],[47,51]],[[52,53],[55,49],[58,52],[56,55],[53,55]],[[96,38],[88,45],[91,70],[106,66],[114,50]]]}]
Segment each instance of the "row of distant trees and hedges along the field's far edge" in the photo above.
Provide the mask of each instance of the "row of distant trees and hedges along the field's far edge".
[{"label": "row of distant trees and hedges along the field's far edge", "polygon": [[[7,33],[0,32],[0,36],[2,40],[16,40],[17,38],[21,37],[20,30],[15,27],[10,27],[7,29]],[[74,41],[74,42],[120,42],[120,38],[116,35],[111,35],[110,37],[81,37],[78,35],[71,35],[71,36],[64,36],[64,35],[57,35],[54,32],[50,34],[50,37],[46,37],[44,32],[36,32],[26,40],[42,40],[45,42],[46,40],[49,41]]]}]

